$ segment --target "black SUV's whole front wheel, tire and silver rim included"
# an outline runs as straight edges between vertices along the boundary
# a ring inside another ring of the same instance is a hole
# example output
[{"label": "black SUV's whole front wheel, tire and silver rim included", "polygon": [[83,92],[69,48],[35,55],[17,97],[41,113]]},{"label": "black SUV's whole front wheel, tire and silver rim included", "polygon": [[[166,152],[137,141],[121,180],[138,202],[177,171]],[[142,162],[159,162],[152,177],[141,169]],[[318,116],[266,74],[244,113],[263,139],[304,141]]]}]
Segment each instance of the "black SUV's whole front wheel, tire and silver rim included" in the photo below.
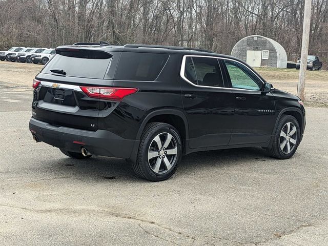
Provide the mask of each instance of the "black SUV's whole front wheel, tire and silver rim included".
[{"label": "black SUV's whole front wheel, tire and silver rim included", "polygon": [[[291,139],[293,139],[293,141]],[[299,140],[300,127],[297,119],[291,115],[282,115],[278,121],[273,144],[269,149],[269,153],[271,156],[278,159],[289,159],[295,154],[299,145]]]}]

